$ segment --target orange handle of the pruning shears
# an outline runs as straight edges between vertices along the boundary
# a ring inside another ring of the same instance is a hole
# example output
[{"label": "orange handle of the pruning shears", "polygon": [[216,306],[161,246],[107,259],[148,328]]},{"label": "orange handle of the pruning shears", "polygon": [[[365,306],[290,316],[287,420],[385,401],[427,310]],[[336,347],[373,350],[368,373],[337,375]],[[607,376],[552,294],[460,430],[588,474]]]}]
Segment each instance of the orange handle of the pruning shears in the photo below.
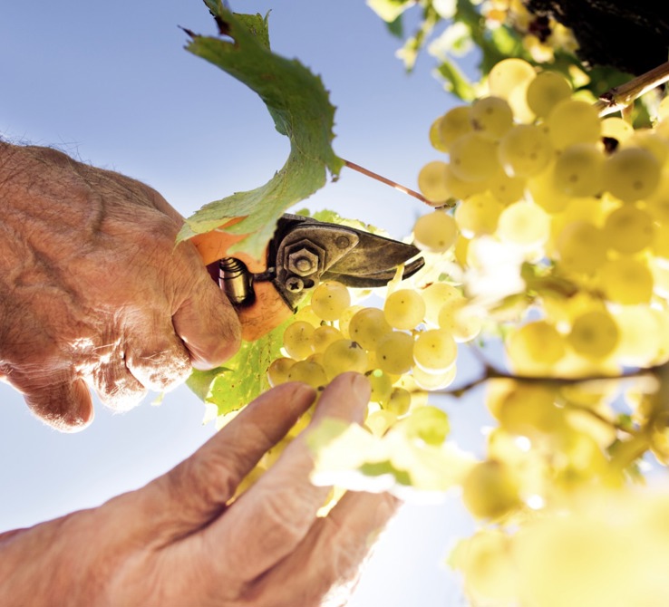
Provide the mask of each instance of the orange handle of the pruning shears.
[{"label": "orange handle of the pruning shears", "polygon": [[[242,217],[229,221],[222,227],[231,226]],[[206,234],[193,236],[191,242],[198,249],[202,261],[209,268],[209,273],[216,276],[218,280],[218,261],[229,256],[234,256],[244,262],[247,269],[252,274],[262,274],[267,270],[267,252],[262,261],[245,253],[236,253],[229,255],[230,246],[244,238],[244,234],[230,234],[223,231],[212,231]],[[242,339],[247,342],[254,342],[258,338],[266,335],[279,324],[286,321],[293,311],[286,304],[283,297],[278,293],[276,287],[271,281],[257,281],[252,284],[254,298],[248,304],[236,305],[235,310],[238,314],[242,327]]]}]

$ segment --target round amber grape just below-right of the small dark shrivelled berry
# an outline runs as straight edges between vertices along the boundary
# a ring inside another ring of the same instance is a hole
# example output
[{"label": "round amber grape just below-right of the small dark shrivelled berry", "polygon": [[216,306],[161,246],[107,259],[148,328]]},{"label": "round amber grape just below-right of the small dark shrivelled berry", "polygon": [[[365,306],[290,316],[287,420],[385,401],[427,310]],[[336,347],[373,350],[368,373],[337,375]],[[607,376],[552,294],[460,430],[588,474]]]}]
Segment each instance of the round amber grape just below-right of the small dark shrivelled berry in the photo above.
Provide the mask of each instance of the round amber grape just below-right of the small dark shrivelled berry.
[{"label": "round amber grape just below-right of the small dark shrivelled berry", "polygon": [[623,202],[647,198],[660,182],[660,162],[644,148],[617,150],[606,159],[604,181]]}]

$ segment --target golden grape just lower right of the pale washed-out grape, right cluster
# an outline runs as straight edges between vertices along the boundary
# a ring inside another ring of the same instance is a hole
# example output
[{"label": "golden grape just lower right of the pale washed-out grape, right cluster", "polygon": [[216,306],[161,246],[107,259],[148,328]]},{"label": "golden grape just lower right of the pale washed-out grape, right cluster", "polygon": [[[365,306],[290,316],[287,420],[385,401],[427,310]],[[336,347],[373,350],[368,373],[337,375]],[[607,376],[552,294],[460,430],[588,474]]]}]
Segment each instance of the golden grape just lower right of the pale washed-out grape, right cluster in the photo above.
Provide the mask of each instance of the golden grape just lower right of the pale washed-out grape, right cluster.
[{"label": "golden grape just lower right of the pale washed-out grape, right cluster", "polygon": [[557,255],[567,272],[593,274],[606,261],[606,239],[596,226],[575,221],[557,237]]}]

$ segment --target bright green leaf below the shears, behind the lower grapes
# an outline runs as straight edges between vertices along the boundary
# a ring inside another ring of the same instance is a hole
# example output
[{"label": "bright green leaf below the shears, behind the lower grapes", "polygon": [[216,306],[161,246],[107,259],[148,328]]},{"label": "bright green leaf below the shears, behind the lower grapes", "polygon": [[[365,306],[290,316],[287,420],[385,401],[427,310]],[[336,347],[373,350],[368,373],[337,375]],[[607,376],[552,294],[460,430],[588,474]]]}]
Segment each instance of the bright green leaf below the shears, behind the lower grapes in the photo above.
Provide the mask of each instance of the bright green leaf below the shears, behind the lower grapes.
[{"label": "bright green leaf below the shears, behind the lower grapes", "polygon": [[192,371],[186,382],[199,399],[218,407],[218,415],[228,415],[246,406],[269,389],[267,367],[280,356],[286,323],[255,342],[242,342],[241,348],[225,367],[212,371]]}]

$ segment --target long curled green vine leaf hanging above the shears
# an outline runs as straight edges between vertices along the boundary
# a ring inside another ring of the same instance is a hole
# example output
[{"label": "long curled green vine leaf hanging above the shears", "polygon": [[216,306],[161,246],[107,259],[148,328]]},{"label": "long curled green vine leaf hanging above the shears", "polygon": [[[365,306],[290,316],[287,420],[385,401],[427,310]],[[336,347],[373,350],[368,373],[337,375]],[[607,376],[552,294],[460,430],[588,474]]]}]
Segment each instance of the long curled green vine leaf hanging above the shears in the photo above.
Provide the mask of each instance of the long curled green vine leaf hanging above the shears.
[{"label": "long curled green vine leaf hanging above the shears", "polygon": [[[233,217],[245,217],[226,231],[246,234],[229,249],[260,259],[276,221],[300,200],[323,186],[329,171],[336,178],[344,162],[332,149],[335,107],[318,76],[302,63],[269,48],[267,16],[233,14],[220,0],[206,0],[225,37],[193,34],[186,47],[257,92],[276,130],[290,140],[283,168],[265,185],[210,202],[186,220],[179,241],[217,229]],[[252,160],[252,159],[249,159]]]}]

